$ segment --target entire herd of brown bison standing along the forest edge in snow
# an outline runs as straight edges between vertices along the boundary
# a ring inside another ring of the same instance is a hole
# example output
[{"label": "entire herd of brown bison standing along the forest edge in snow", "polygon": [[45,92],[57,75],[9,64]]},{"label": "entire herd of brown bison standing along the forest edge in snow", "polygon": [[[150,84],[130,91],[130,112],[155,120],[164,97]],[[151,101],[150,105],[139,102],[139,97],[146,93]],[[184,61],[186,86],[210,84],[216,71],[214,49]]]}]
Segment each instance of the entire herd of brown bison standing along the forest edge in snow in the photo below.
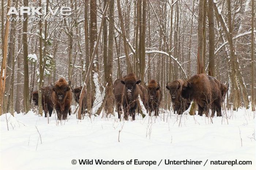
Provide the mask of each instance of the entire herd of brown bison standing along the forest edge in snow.
[{"label": "entire herd of brown bison standing along the forest edge in snow", "polygon": [[[225,100],[226,92],[229,85],[222,84],[219,80],[206,74],[196,74],[188,80],[178,79],[168,82],[166,89],[170,93],[173,104],[174,113],[178,115],[186,111],[191,101],[198,105],[198,115],[203,113],[208,116],[211,109],[211,117],[215,111],[217,116],[222,116],[221,104]],[[67,115],[71,114],[72,94],[75,101],[79,104],[80,93],[82,86],[78,88],[71,87],[71,82],[67,82],[64,78],[60,78],[54,85],[41,88],[42,93],[42,108],[45,112],[45,117],[49,113],[52,115],[53,108],[56,110],[58,120],[67,119]],[[155,80],[150,80],[148,85],[141,84],[134,73],[129,73],[122,78],[118,78],[113,84],[114,98],[118,119],[121,118],[123,109],[124,119],[128,120],[131,116],[135,120],[136,111],[140,112],[139,98],[149,116],[154,112],[154,116],[159,115],[159,107],[162,101],[162,89],[159,83]],[[87,109],[87,95],[84,95],[82,100],[82,113]],[[38,105],[38,91],[33,92],[33,103]],[[94,98],[91,98],[91,105],[94,103]]]}]

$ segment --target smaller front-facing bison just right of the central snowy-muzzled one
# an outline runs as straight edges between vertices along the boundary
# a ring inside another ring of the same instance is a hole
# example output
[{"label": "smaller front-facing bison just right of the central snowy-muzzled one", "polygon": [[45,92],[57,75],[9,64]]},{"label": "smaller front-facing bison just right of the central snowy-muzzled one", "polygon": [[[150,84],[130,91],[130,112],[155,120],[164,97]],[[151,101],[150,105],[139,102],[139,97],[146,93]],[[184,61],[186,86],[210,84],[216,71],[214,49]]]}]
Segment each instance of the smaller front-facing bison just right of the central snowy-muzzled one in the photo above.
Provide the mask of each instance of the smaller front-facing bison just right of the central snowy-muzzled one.
[{"label": "smaller front-facing bison just right of the central snowy-muzzled one", "polygon": [[147,86],[148,100],[147,100],[147,111],[149,116],[154,111],[155,116],[159,115],[159,106],[162,101],[162,90],[155,80],[150,80]]}]

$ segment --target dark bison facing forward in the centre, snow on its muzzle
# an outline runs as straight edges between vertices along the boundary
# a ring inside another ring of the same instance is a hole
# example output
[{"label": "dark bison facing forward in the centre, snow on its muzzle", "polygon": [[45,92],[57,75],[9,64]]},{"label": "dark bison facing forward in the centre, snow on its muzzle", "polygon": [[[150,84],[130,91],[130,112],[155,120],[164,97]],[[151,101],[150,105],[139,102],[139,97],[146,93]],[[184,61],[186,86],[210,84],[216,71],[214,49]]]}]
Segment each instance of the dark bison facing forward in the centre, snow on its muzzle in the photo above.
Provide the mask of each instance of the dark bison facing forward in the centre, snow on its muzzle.
[{"label": "dark bison facing forward in the centre, snow on its muzzle", "polygon": [[140,90],[140,80],[136,80],[134,73],[129,73],[121,80],[124,84],[122,104],[124,109],[124,119],[128,120],[128,115],[132,116],[132,120],[135,120],[135,110],[138,108],[138,97],[143,96]]}]

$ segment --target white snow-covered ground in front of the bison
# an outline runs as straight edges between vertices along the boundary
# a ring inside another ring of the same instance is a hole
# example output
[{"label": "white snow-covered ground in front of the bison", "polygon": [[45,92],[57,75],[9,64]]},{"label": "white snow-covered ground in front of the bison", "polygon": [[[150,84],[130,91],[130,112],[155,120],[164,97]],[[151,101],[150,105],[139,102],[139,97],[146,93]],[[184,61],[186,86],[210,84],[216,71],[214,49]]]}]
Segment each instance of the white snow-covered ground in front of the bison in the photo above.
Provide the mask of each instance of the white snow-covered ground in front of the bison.
[{"label": "white snow-covered ground in front of the bison", "polygon": [[[255,112],[243,108],[229,111],[224,118],[214,117],[213,123],[205,116],[177,116],[167,112],[164,120],[162,113],[158,118],[142,119],[137,115],[135,121],[130,118],[121,122],[116,114],[79,121],[76,115],[71,115],[67,121],[58,123],[53,114],[48,124],[47,118],[38,117],[32,111],[15,117],[7,113],[0,118],[1,170],[255,169]],[[76,165],[72,165],[72,159],[77,160]],[[94,165],[79,165],[79,159],[114,159],[124,161],[125,165],[95,165],[94,160]],[[131,159],[132,165],[126,165]],[[157,165],[133,165],[134,159],[156,161]],[[165,165],[165,159],[202,163]],[[236,159],[252,161],[253,165],[210,165],[210,161]]]}]

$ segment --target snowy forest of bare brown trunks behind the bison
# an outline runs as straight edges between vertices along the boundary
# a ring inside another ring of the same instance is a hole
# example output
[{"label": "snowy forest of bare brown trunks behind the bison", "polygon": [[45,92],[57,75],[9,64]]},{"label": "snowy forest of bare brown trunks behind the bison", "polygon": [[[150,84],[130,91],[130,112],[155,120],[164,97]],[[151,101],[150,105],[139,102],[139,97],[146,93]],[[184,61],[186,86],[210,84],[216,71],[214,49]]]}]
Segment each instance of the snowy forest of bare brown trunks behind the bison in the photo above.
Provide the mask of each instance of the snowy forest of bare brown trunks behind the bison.
[{"label": "snowy forest of bare brown trunks behind the bison", "polygon": [[1,1],[0,114],[27,113],[32,92],[61,77],[114,114],[113,81],[130,72],[159,82],[164,109],[167,82],[207,73],[230,85],[227,109],[255,110],[255,34],[253,0]]}]

